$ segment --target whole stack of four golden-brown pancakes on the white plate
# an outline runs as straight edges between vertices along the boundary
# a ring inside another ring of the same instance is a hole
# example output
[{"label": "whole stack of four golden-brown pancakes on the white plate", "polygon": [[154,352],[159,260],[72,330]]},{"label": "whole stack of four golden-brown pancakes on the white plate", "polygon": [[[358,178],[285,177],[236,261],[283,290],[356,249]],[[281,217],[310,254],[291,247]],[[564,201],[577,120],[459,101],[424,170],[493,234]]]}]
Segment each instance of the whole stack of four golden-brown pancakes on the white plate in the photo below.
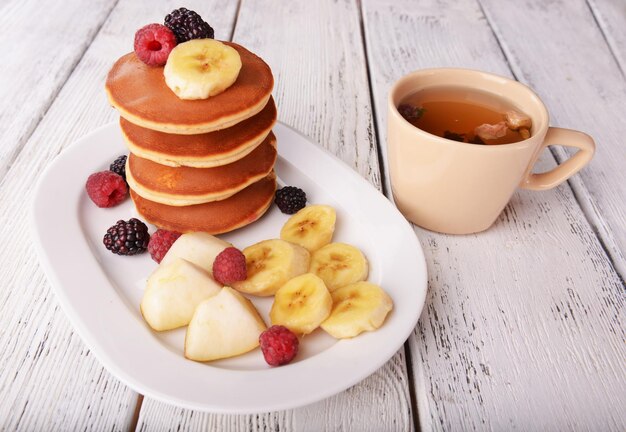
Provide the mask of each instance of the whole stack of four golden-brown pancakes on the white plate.
[{"label": "whole stack of four golden-brown pancakes on the white plate", "polygon": [[126,180],[139,214],[159,228],[219,234],[257,220],[272,203],[276,106],[269,66],[242,46],[237,81],[223,93],[183,100],[162,67],[134,53],[106,82],[130,150]]}]

